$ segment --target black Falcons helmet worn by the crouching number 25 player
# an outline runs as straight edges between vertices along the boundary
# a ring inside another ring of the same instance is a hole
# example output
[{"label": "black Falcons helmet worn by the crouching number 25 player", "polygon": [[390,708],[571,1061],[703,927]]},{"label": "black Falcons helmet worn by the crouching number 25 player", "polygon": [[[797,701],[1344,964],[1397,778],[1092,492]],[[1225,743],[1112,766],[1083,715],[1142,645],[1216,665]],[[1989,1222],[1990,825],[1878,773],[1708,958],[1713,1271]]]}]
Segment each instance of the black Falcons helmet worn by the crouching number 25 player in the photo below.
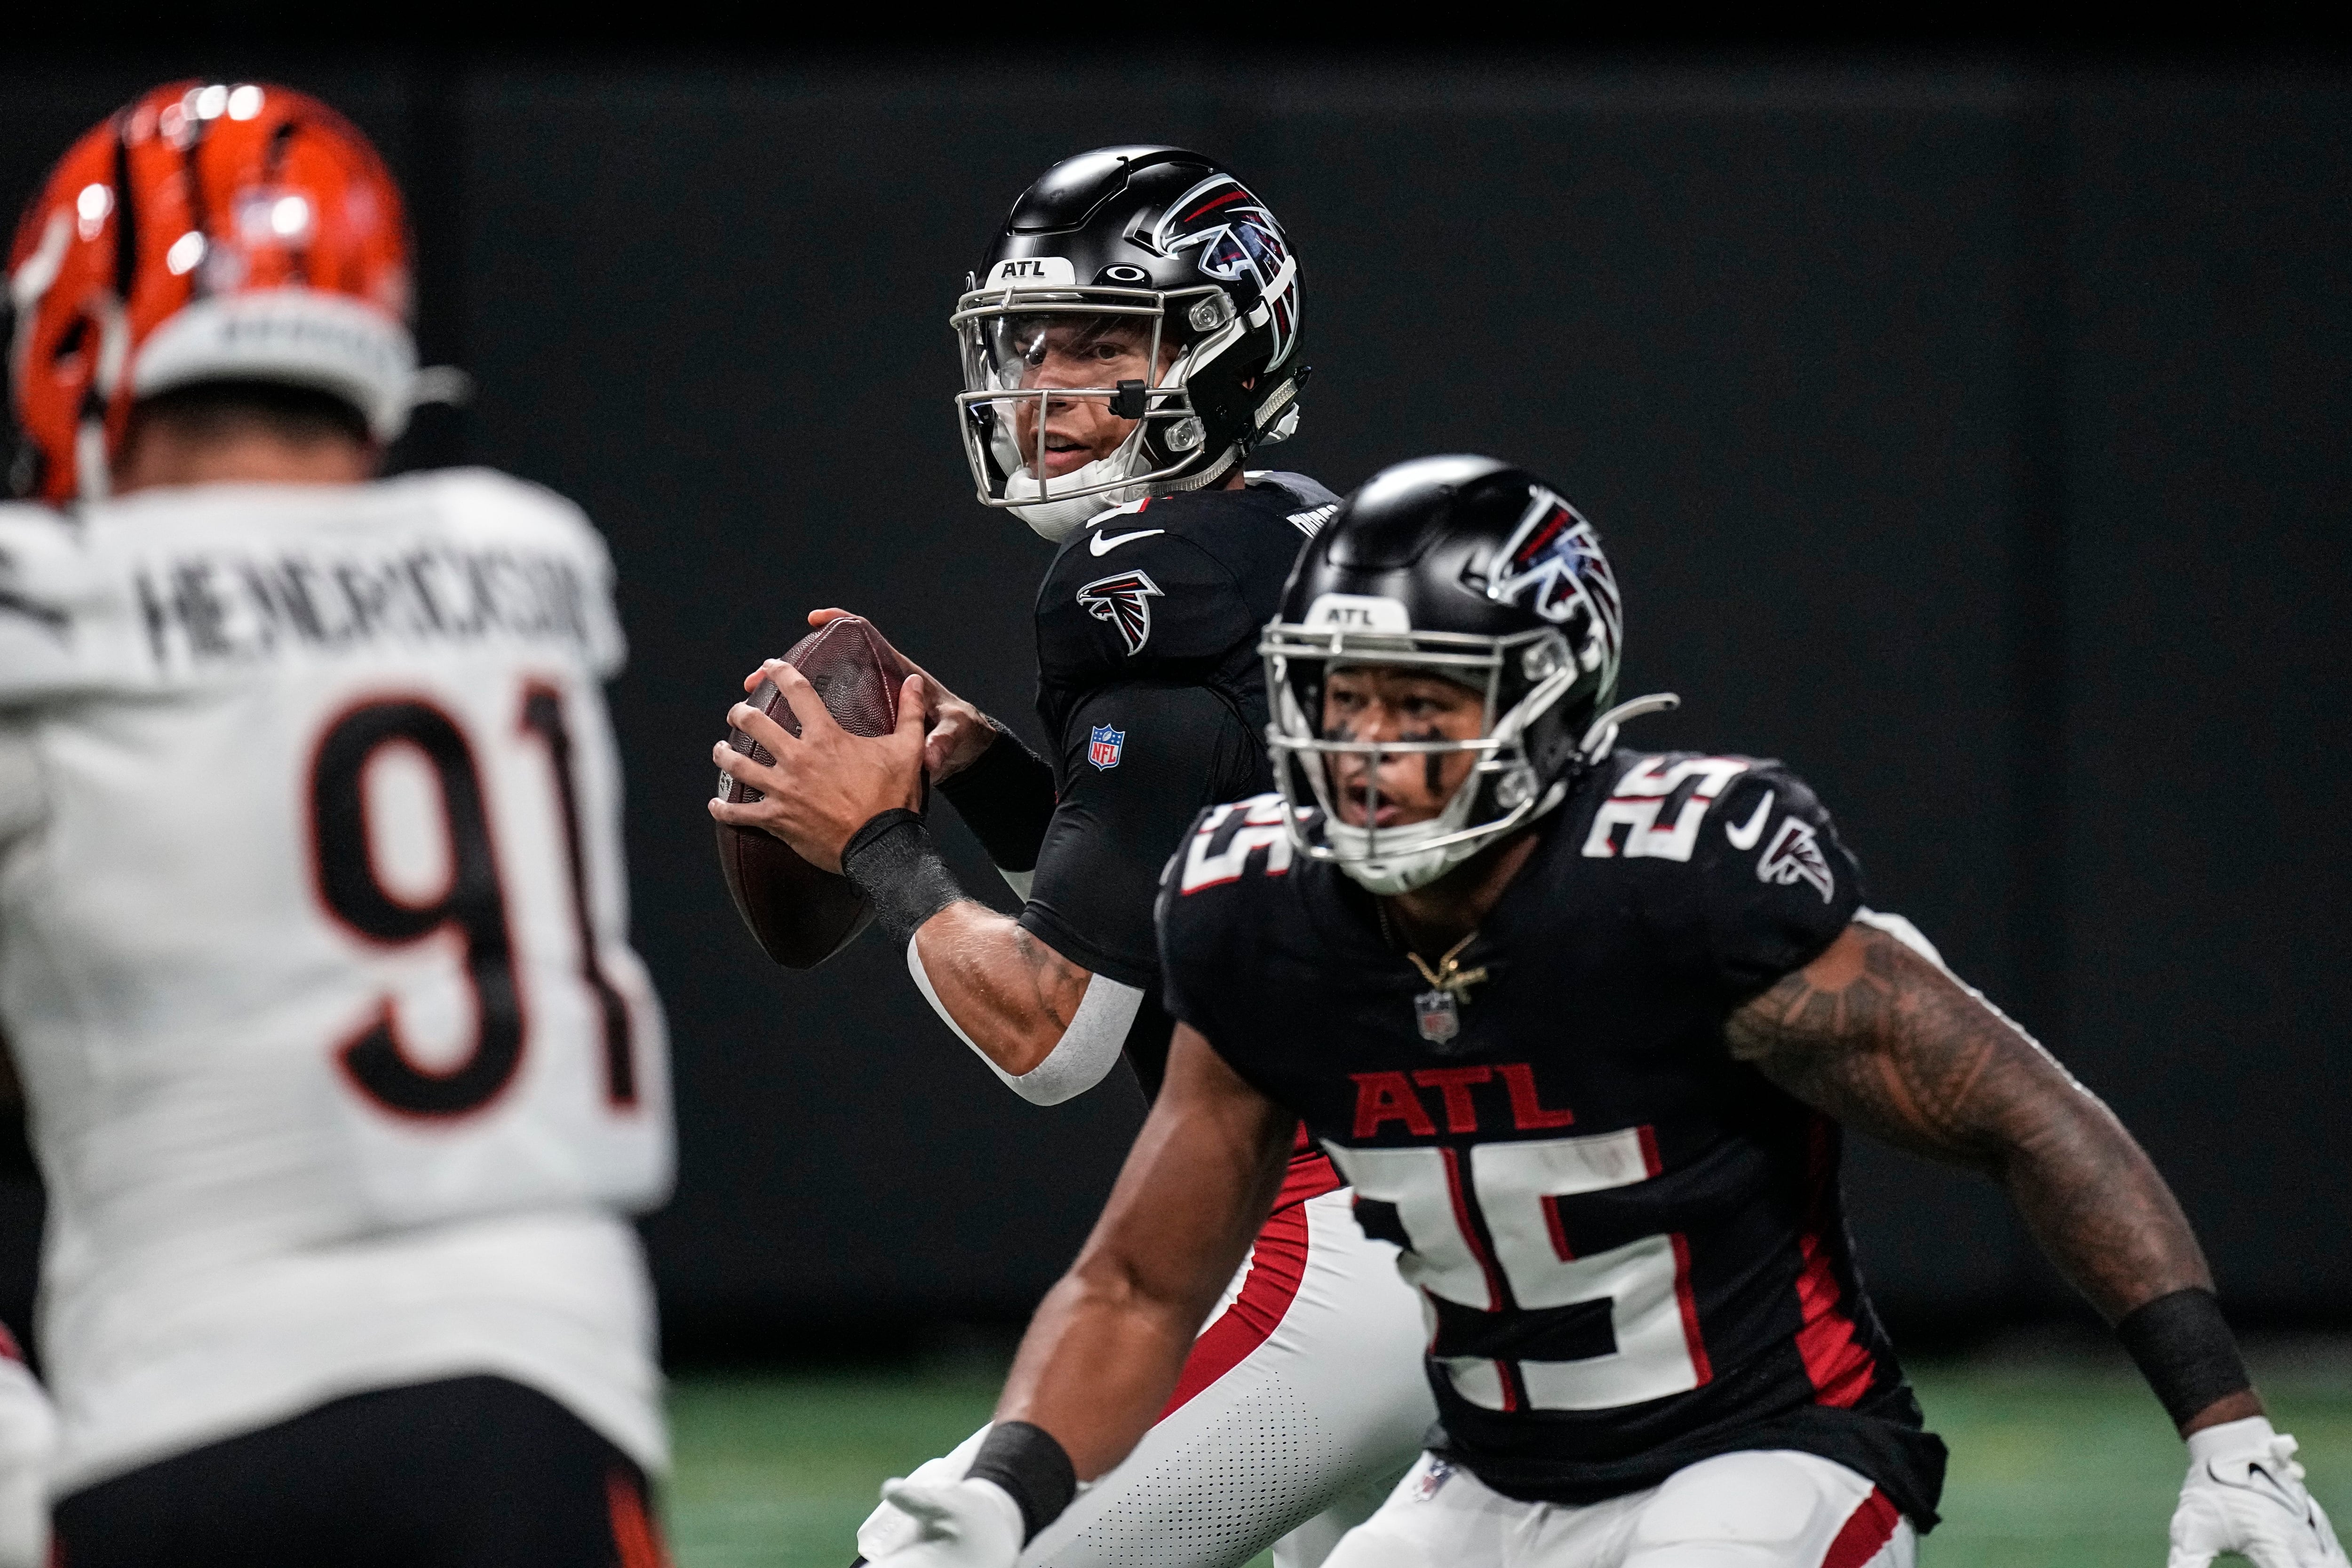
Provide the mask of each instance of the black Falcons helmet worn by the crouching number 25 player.
[{"label": "black Falcons helmet worn by the crouching number 25 player", "polygon": [[[1557,806],[1616,722],[1675,698],[1616,698],[1625,609],[1602,541],[1550,484],[1494,458],[1435,456],[1383,468],[1298,557],[1265,628],[1275,778],[1291,839],[1374,893],[1446,875]],[[1475,741],[1324,736],[1324,679],[1341,665],[1409,668],[1486,698]],[[1376,827],[1334,811],[1327,757],[1362,755],[1367,795],[1406,755],[1477,764],[1432,820]]]}]

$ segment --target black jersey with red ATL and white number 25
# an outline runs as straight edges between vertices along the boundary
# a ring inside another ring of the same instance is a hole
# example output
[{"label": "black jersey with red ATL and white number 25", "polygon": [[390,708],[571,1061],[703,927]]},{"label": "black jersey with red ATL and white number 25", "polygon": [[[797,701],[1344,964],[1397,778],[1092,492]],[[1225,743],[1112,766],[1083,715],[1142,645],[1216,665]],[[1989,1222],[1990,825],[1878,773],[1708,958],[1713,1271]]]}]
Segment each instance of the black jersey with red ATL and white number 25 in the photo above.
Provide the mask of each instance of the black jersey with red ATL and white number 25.
[{"label": "black jersey with red ATL and white number 25", "polygon": [[1439,1453],[1510,1497],[1597,1502],[1799,1448],[1931,1526],[1943,1443],[1853,1269],[1839,1128],[1724,1044],[1853,917],[1853,858],[1748,757],[1611,757],[1538,832],[1454,1004],[1369,893],[1291,849],[1275,797],[1216,806],[1162,891],[1169,1009],[1404,1248]]}]

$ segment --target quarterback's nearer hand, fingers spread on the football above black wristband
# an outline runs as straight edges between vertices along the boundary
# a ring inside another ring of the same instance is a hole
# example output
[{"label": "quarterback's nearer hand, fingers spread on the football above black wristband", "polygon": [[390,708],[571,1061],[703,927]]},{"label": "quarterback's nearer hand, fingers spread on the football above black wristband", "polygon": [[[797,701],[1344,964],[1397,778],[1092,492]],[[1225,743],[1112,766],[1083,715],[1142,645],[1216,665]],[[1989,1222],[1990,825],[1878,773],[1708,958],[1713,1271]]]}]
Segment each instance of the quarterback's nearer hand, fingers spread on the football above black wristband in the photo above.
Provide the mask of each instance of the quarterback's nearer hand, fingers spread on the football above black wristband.
[{"label": "quarterback's nearer hand, fingers spread on the football above black wristband", "polygon": [[760,764],[724,741],[710,759],[729,778],[760,792],[753,802],[713,799],[710,816],[731,827],[769,832],[818,870],[842,870],[842,849],[858,827],[903,806],[922,811],[922,677],[898,686],[898,726],[887,736],[851,736],[826,712],[816,686],[800,670],[771,658],[746,682],[776,682],[776,691],[800,719],[800,733],[750,703],[727,710],[727,722],[767,748],[776,762]]}]

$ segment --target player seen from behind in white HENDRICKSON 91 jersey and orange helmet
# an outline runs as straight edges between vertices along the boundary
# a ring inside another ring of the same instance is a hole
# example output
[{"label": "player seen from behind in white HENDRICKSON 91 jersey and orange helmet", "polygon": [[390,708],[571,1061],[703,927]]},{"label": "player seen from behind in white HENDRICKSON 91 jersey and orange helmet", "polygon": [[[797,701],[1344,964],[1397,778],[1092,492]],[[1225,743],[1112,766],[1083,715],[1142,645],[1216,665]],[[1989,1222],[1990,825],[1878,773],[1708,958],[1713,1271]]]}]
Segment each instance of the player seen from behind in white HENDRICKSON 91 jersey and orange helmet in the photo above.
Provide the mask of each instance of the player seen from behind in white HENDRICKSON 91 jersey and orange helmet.
[{"label": "player seen from behind in white HENDRICKSON 91 jersey and orange helmet", "polygon": [[400,193],[334,110],[172,85],[12,256],[0,1032],[49,1187],[73,1568],[661,1559],[670,1180],[602,541],[376,482]]}]

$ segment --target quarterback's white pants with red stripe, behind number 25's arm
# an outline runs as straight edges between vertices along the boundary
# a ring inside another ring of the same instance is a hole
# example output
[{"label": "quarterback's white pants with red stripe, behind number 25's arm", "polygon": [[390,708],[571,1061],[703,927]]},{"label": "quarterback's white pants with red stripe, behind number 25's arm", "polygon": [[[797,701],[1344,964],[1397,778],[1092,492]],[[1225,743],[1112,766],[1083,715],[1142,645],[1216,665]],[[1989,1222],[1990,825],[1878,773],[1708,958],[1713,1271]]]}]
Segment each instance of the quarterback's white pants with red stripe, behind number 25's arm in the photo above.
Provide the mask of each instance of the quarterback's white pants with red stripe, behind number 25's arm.
[{"label": "quarterback's white pants with red stripe, behind number 25's arm", "polygon": [[[1437,1403],[1421,1298],[1397,1248],[1355,1225],[1350,1192],[1268,1220],[1209,1314],[1171,1408],[1127,1460],[1037,1533],[1021,1568],[1317,1568],[1421,1453]],[[985,1427],[915,1481],[955,1481]],[[913,1540],[882,1505],[868,1559]]]}]

